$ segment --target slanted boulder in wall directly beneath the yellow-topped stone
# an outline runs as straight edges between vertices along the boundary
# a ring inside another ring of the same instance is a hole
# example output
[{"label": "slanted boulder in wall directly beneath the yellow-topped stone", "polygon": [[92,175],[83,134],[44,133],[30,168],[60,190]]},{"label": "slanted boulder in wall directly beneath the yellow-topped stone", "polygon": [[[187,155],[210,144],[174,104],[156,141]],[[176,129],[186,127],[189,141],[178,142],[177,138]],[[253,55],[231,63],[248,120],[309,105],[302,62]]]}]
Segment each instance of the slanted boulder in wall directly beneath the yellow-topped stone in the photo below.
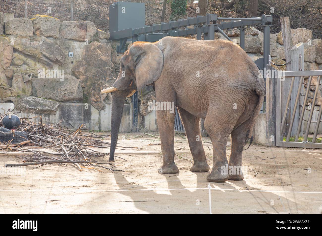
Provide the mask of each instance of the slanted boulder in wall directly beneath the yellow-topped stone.
[{"label": "slanted boulder in wall directly beneath the yellow-topped stone", "polygon": [[63,64],[66,57],[60,47],[58,47],[56,44],[46,39],[45,37],[41,38],[39,51],[48,59],[59,65]]}]

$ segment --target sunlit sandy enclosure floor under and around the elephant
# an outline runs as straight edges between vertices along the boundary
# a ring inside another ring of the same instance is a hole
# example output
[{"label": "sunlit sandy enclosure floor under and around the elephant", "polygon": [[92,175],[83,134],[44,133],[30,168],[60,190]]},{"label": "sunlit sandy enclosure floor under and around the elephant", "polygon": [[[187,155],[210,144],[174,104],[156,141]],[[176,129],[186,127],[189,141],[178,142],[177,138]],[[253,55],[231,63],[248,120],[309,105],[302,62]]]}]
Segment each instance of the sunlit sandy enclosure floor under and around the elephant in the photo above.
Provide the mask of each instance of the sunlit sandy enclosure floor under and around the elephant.
[{"label": "sunlit sandy enclosure floor under and around the elephant", "polygon": [[[157,134],[154,134],[157,135]],[[242,181],[207,182],[194,173],[185,136],[175,137],[178,174],[159,174],[160,140],[142,133],[120,134],[117,169],[83,169],[72,164],[27,166],[22,175],[0,172],[0,213],[318,213],[322,205],[322,151],[251,145],[243,152]],[[203,141],[210,141],[204,138]],[[203,143],[212,166],[212,145]],[[231,152],[227,145],[227,157]],[[99,149],[109,152],[109,148]],[[0,151],[0,168],[19,163],[16,152]],[[266,159],[266,160],[265,160]],[[107,161],[108,156],[103,160]],[[249,167],[248,167],[249,166]],[[308,170],[305,170],[308,169]],[[1,169],[0,169],[1,170]],[[257,174],[254,171],[257,172]]]}]

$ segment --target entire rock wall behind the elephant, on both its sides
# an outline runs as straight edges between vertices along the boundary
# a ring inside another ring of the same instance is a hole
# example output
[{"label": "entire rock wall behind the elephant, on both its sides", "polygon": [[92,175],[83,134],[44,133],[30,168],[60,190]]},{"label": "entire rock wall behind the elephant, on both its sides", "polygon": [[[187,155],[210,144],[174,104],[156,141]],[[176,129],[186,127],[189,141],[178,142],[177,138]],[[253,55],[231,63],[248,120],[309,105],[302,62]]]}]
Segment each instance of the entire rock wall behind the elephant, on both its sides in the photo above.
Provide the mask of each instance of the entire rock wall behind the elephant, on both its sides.
[{"label": "entire rock wall behind the elephant, on both its sides", "polygon": [[[322,40],[313,40],[308,29],[291,32],[293,44],[305,43],[304,69],[321,70]],[[225,33],[240,43],[239,30]],[[215,39],[226,40],[219,33],[215,33]],[[262,57],[262,32],[246,29],[245,51],[253,60]],[[281,32],[270,34],[270,56],[277,64],[285,63]],[[109,130],[111,96],[100,91],[114,83],[120,57],[115,43],[109,41],[109,33],[96,29],[93,22],[60,22],[46,15],[13,18],[0,12],[0,107],[46,115],[51,117],[48,121],[66,118],[73,120],[73,125],[85,122],[92,128]],[[155,99],[152,87],[146,87],[141,95],[140,128],[157,130],[155,111],[147,109],[148,102]],[[126,107],[130,117],[129,99]],[[130,131],[131,118],[123,120],[123,131]]]}]

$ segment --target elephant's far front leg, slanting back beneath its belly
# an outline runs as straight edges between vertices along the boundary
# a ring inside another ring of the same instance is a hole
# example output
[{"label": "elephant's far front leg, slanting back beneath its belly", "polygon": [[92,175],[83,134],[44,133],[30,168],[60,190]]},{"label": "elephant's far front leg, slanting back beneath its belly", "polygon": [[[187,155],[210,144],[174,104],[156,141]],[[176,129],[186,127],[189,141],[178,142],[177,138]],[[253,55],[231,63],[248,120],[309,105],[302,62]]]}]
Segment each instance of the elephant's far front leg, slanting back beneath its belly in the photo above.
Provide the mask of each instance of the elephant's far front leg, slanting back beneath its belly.
[{"label": "elephant's far front leg, slanting back beneath its belly", "polygon": [[206,155],[204,153],[204,147],[202,145],[199,121],[200,118],[187,112],[185,109],[178,107],[182,122],[185,127],[185,133],[188,138],[188,143],[192,157],[194,159],[194,164],[190,168],[193,172],[206,172],[209,170],[209,165],[207,164]]}]

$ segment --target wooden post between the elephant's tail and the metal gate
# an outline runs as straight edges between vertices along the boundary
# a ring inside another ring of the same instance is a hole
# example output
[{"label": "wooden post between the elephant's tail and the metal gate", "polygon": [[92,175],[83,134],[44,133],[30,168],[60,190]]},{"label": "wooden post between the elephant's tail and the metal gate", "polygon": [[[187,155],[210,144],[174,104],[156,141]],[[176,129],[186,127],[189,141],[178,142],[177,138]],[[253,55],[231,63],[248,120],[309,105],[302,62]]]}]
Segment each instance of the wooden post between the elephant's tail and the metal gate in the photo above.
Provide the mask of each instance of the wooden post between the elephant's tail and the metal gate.
[{"label": "wooden post between the elephant's tail and the metal gate", "polygon": [[[266,145],[276,146],[276,76],[274,67],[267,65],[270,70],[266,76]],[[271,76],[273,75],[273,76]]]}]

